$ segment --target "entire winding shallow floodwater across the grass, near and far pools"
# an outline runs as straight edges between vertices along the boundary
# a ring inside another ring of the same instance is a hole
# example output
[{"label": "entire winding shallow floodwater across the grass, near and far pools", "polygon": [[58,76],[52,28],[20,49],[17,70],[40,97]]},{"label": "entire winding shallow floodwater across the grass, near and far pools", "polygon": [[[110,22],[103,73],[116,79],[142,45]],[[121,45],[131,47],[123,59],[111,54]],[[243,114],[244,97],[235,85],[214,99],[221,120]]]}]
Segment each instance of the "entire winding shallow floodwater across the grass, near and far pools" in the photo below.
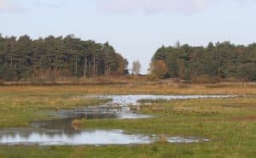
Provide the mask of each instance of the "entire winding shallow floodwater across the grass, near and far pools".
[{"label": "entire winding shallow floodwater across the grass, near and far pools", "polygon": [[[191,95],[113,95],[84,96],[83,98],[113,99],[108,104],[91,106],[79,110],[59,110],[61,119],[38,121],[28,128],[7,128],[0,130],[0,144],[38,144],[38,145],[104,145],[104,144],[151,144],[160,140],[157,135],[126,133],[123,130],[90,130],[73,126],[76,119],[145,119],[150,116],[140,115],[130,110],[129,105],[137,105],[139,99],[201,99],[225,98],[232,96]],[[169,137],[169,143],[199,143],[210,141],[207,138]]]}]

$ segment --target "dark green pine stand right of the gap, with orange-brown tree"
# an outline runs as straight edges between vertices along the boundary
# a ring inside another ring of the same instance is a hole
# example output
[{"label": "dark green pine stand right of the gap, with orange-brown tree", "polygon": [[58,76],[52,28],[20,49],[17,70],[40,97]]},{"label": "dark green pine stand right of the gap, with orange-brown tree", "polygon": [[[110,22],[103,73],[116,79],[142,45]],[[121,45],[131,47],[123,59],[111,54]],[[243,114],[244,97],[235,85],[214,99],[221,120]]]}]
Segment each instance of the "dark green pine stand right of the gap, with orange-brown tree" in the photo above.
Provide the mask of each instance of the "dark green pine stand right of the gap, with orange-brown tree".
[{"label": "dark green pine stand right of the gap, with orange-brown tree", "polygon": [[256,81],[256,43],[235,45],[209,42],[207,47],[188,44],[159,48],[151,62],[152,76],[182,80]]}]

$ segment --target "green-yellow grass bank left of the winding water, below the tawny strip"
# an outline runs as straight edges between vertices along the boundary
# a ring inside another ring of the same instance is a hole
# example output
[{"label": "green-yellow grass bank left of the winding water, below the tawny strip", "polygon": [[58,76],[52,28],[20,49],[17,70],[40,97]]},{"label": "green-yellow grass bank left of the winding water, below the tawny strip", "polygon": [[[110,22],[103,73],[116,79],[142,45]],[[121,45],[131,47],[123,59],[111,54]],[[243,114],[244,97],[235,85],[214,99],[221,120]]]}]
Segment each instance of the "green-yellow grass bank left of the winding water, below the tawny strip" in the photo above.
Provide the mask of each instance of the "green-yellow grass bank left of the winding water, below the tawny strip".
[{"label": "green-yellow grass bank left of the winding water, below the tawny strip", "polygon": [[79,99],[75,96],[0,95],[0,127],[27,127],[32,121],[53,119],[54,111],[98,105],[109,99]]}]

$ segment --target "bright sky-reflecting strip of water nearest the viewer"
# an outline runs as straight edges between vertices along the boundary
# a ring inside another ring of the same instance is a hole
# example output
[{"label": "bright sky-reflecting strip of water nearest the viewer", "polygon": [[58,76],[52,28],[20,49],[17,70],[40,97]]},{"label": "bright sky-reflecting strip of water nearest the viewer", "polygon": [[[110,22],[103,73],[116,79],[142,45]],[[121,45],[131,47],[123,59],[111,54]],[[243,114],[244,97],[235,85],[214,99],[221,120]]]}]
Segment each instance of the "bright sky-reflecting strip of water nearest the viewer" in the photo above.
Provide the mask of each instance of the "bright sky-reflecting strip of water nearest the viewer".
[{"label": "bright sky-reflecting strip of water nearest the viewer", "polygon": [[152,139],[145,135],[129,135],[122,130],[63,131],[6,131],[0,133],[0,144],[38,145],[104,145],[104,144],[150,144]]}]

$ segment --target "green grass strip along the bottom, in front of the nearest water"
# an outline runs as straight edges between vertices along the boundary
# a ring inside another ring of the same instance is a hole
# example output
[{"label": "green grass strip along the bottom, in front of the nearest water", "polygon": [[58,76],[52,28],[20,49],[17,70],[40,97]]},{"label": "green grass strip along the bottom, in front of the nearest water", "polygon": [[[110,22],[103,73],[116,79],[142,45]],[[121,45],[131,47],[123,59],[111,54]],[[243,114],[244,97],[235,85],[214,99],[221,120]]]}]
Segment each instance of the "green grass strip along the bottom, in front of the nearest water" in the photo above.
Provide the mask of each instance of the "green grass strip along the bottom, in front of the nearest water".
[{"label": "green grass strip along the bottom, in front of the nearest water", "polygon": [[[37,158],[113,158],[113,157],[160,157],[160,158],[180,158],[180,157],[224,157],[224,158],[247,158],[254,157],[255,152],[244,148],[240,143],[234,148],[230,148],[226,143],[206,143],[206,144],[145,144],[145,145],[108,145],[108,146],[4,146],[0,150],[0,156],[9,157],[37,157]],[[251,144],[253,145],[253,144]],[[45,152],[47,151],[47,152]],[[243,153],[239,153],[243,152]]]}]

